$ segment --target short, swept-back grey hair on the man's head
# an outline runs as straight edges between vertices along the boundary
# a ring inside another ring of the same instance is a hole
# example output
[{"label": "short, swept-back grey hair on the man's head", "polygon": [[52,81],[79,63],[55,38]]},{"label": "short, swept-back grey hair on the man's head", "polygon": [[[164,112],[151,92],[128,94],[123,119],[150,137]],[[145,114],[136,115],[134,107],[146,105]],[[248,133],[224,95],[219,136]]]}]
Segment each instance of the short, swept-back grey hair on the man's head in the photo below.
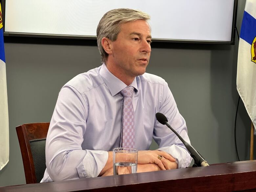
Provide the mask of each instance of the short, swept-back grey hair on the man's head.
[{"label": "short, swept-back grey hair on the man's head", "polygon": [[106,12],[100,19],[97,27],[97,44],[99,53],[101,55],[101,62],[106,62],[108,53],[105,52],[101,45],[103,37],[107,37],[111,41],[117,40],[117,35],[120,32],[120,24],[129,21],[136,21],[142,19],[148,21],[150,16],[142,11],[133,9],[113,9]]}]

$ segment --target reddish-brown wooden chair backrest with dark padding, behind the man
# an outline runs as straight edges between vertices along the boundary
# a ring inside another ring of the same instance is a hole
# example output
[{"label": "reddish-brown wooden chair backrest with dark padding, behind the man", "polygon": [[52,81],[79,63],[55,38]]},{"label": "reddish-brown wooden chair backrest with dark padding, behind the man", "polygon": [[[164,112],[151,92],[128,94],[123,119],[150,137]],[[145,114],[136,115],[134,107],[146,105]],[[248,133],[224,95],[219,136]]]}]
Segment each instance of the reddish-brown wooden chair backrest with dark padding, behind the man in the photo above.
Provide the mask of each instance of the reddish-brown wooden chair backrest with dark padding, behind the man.
[{"label": "reddish-brown wooden chair backrest with dark padding, behind the man", "polygon": [[45,142],[50,123],[29,123],[16,127],[26,183],[38,183],[44,176]]}]

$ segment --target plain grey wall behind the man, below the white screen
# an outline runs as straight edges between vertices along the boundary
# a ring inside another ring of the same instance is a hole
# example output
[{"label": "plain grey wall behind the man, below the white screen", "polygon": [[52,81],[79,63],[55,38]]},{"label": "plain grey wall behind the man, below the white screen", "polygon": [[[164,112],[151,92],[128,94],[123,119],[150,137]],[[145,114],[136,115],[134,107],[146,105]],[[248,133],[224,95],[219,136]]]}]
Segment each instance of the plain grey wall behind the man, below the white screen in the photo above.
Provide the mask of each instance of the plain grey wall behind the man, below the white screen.
[{"label": "plain grey wall behind the man, below the white screen", "polygon": [[[245,1],[238,3],[240,31]],[[214,29],[213,29],[214,30]],[[153,43],[148,73],[163,77],[186,120],[191,143],[210,163],[236,161],[234,119],[238,39],[235,45]],[[10,161],[0,186],[24,184],[15,127],[49,122],[60,88],[75,75],[100,65],[95,41],[5,38],[10,121]],[[237,143],[249,160],[250,119],[240,102]],[[152,143],[151,149],[157,148]]]}]

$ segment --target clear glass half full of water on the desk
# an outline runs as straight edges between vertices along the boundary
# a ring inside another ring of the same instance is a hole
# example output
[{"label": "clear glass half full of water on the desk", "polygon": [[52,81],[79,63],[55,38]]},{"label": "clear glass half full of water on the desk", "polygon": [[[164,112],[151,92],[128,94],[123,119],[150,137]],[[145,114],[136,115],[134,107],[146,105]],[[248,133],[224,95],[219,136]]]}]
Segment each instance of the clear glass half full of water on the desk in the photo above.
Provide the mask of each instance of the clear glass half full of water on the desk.
[{"label": "clear glass half full of water on the desk", "polygon": [[113,149],[114,175],[137,173],[138,150],[134,148]]}]

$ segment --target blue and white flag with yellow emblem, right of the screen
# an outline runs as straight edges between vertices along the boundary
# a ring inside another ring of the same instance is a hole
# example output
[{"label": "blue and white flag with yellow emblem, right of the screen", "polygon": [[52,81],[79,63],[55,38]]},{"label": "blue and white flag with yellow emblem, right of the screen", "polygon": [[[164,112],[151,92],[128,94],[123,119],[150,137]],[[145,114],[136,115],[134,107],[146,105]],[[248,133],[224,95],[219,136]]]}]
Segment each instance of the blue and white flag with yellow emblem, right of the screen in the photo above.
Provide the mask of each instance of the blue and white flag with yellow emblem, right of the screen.
[{"label": "blue and white flag with yellow emblem, right of the screen", "polygon": [[256,0],[246,0],[245,4],[238,49],[236,85],[256,129]]}]

